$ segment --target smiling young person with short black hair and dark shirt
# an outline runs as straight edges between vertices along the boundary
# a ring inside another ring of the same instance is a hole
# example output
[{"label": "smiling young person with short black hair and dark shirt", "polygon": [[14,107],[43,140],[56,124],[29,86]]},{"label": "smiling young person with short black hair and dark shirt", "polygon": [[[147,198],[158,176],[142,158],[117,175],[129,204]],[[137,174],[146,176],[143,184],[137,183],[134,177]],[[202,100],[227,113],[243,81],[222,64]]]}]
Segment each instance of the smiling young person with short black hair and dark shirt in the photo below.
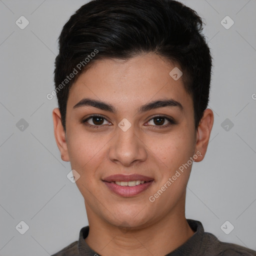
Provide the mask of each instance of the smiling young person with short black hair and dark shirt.
[{"label": "smiling young person with short black hair and dark shirt", "polygon": [[201,32],[174,0],[93,0],[63,26],[54,135],[89,225],[54,256],[256,255],[185,218],[213,125]]}]

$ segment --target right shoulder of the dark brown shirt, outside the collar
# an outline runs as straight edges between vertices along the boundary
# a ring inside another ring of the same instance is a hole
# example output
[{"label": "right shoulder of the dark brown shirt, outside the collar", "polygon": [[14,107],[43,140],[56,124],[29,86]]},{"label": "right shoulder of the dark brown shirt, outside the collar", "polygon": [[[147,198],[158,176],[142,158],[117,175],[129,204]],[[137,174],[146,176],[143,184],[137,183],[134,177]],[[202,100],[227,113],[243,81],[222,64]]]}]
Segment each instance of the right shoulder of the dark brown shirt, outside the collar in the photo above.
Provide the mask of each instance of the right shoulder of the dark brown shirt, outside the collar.
[{"label": "right shoulder of the dark brown shirt, outside the collar", "polygon": [[211,233],[205,232],[204,238],[207,240],[205,255],[214,256],[256,256],[256,251],[244,246],[223,242]]}]

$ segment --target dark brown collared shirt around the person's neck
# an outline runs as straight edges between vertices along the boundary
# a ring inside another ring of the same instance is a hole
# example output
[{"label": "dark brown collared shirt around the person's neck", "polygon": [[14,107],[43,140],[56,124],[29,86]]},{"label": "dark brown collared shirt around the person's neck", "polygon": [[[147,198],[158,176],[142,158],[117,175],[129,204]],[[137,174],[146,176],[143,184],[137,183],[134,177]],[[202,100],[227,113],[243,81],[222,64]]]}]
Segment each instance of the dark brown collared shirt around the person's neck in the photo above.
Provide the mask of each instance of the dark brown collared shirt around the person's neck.
[{"label": "dark brown collared shirt around the person's neck", "polygon": [[[211,233],[204,232],[202,223],[197,220],[187,219],[189,226],[195,233],[182,245],[165,256],[256,256],[256,251],[243,246],[221,242]],[[93,251],[84,238],[89,233],[89,226],[80,229],[79,240],[51,256],[100,256]]]}]

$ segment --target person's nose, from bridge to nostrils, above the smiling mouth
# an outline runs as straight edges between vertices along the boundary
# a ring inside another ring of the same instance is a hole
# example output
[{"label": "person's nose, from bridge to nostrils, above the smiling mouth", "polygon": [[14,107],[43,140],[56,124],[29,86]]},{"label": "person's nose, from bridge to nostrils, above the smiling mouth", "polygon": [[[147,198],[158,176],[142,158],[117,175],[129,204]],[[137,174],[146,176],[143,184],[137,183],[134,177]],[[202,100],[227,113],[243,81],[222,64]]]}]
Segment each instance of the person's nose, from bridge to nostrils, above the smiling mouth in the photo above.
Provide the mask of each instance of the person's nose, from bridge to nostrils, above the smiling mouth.
[{"label": "person's nose, from bridge to nostrils, above the smiling mouth", "polygon": [[146,145],[141,138],[135,134],[133,125],[126,131],[116,127],[116,135],[110,142],[109,159],[124,166],[145,161],[147,158]]}]

